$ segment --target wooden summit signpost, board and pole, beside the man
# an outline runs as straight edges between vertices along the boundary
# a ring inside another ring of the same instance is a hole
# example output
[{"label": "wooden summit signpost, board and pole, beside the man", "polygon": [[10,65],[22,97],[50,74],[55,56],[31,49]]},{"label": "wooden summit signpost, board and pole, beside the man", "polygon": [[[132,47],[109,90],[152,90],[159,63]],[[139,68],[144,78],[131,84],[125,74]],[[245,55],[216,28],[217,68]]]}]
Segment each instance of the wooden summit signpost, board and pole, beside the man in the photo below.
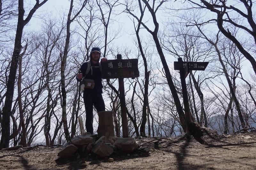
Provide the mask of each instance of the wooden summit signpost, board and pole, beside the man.
[{"label": "wooden summit signpost, board and pole, beside the man", "polygon": [[128,122],[127,122],[127,116],[126,116],[124,78],[139,77],[140,73],[138,70],[138,59],[122,60],[121,54],[117,54],[116,58],[117,58],[116,60],[108,60],[106,62],[101,62],[100,64],[102,67],[103,79],[118,78],[123,138],[127,138],[129,137],[129,132],[128,132]]}]

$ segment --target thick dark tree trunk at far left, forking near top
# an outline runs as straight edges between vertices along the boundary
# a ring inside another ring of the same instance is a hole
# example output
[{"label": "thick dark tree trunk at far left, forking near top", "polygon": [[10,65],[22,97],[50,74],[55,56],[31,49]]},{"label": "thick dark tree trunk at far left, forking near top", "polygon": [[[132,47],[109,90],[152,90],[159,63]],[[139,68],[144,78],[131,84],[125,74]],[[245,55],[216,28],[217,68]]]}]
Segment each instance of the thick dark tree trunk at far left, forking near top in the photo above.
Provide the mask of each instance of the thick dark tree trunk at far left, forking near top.
[{"label": "thick dark tree trunk at far left, forking near top", "polygon": [[16,78],[16,72],[18,67],[18,60],[20,56],[20,50],[22,48],[21,39],[23,28],[25,25],[28,24],[30,19],[32,18],[33,14],[36,10],[45,4],[48,0],[44,0],[41,3],[39,0],[36,0],[36,4],[34,5],[33,9],[29,11],[28,16],[26,19],[24,18],[24,3],[23,0],[19,0],[19,15],[18,15],[18,24],[16,30],[16,36],[14,41],[14,49],[12,54],[12,61],[10,67],[10,73],[7,81],[7,89],[6,89],[6,97],[4,102],[3,108],[3,118],[2,118],[2,137],[0,141],[0,149],[9,147],[9,136],[10,136],[10,112],[12,108],[12,100],[13,100],[13,93],[14,93],[14,82]]}]

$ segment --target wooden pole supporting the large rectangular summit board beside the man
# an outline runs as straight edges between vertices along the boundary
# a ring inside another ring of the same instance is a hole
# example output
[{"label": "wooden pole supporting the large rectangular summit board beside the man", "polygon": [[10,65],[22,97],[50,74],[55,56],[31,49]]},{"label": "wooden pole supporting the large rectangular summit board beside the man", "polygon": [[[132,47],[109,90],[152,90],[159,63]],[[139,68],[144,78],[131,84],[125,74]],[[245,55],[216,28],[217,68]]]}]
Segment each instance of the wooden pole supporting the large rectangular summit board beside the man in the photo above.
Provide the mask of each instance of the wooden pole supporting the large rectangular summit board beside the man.
[{"label": "wooden pole supporting the large rectangular summit board beside the man", "polygon": [[[122,59],[121,54],[116,55],[116,59]],[[125,106],[125,96],[124,96],[124,78],[118,78],[119,83],[119,94],[120,94],[120,107],[121,107],[121,118],[122,118],[122,129],[123,129],[123,138],[129,137],[128,132],[128,122],[126,116],[126,106]]]}]

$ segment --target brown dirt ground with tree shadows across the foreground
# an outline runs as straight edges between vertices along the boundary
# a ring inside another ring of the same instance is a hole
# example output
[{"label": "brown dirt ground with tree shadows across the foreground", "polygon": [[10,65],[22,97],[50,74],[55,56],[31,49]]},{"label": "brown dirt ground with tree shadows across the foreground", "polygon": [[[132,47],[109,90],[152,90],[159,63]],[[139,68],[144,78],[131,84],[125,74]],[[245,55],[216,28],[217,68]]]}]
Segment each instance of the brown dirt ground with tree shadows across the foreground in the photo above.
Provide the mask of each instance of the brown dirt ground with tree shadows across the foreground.
[{"label": "brown dirt ground with tree shadows across the foreground", "polygon": [[[1,150],[0,169],[256,169],[255,131],[226,136],[135,139],[140,144],[138,150],[119,151],[108,158],[93,153],[59,158],[61,146]],[[154,139],[158,140],[150,142]],[[145,148],[150,151],[145,152]],[[109,158],[114,162],[108,162]]]}]

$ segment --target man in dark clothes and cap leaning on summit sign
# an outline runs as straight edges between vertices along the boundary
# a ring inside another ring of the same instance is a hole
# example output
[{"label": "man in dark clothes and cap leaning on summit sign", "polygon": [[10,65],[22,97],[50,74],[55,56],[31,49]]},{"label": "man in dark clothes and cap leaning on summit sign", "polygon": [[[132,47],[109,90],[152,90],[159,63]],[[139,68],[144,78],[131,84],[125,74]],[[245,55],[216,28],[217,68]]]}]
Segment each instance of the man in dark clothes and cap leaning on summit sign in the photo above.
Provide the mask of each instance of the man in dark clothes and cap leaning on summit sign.
[{"label": "man in dark clothes and cap leaning on summit sign", "polygon": [[[91,134],[93,134],[93,104],[97,112],[105,111],[105,103],[102,98],[103,86],[99,60],[100,48],[93,47],[90,53],[90,60],[81,65],[79,73],[76,76],[76,79],[81,81],[81,90],[84,90],[85,128]],[[102,58],[101,61],[107,61],[107,59]]]}]

